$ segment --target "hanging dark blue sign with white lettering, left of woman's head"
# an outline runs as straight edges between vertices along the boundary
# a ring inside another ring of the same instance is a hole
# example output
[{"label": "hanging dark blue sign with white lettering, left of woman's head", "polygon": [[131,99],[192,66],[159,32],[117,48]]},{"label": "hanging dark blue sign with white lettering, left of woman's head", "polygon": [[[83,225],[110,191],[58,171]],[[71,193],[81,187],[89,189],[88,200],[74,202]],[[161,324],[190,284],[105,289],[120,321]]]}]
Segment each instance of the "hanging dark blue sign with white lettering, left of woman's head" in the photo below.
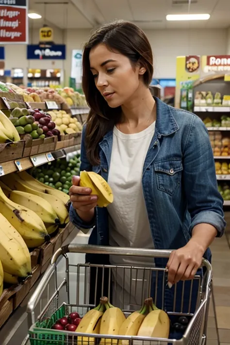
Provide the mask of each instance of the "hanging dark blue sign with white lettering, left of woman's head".
[{"label": "hanging dark blue sign with white lettering, left of woman's head", "polygon": [[66,45],[57,44],[49,48],[40,47],[39,45],[30,44],[27,46],[28,60],[65,60]]}]

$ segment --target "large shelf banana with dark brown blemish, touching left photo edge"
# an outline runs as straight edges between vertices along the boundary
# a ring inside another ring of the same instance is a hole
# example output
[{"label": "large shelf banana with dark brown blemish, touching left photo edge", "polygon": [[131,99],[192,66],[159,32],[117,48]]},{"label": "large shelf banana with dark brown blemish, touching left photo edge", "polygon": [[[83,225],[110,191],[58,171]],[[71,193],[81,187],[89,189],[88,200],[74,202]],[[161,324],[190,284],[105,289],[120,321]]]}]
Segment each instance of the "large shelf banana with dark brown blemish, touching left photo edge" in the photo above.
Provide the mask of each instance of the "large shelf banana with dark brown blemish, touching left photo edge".
[{"label": "large shelf banana with dark brown blemish, touching left photo edge", "polygon": [[0,210],[10,224],[19,232],[29,248],[40,246],[49,240],[48,232],[41,218],[32,210],[8,199],[1,188]]}]

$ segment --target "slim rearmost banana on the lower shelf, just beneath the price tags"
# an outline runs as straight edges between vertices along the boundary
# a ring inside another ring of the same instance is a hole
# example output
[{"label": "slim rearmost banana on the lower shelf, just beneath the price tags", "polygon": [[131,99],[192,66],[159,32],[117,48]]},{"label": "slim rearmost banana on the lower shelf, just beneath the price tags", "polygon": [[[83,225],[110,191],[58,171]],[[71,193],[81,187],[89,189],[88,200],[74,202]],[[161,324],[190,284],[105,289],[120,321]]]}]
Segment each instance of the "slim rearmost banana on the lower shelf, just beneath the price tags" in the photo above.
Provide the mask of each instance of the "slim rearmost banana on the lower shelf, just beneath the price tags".
[{"label": "slim rearmost banana on the lower shelf, just beneath the price tags", "polygon": [[68,207],[69,196],[66,193],[59,191],[55,188],[49,187],[40,181],[37,181],[36,179],[33,178],[33,176],[28,174],[26,171],[21,171],[18,175],[23,181],[26,181],[27,183],[29,183],[31,185],[31,188],[36,189],[37,191],[42,192],[42,193],[53,195],[54,197],[58,197],[59,199],[62,200],[64,205]]}]

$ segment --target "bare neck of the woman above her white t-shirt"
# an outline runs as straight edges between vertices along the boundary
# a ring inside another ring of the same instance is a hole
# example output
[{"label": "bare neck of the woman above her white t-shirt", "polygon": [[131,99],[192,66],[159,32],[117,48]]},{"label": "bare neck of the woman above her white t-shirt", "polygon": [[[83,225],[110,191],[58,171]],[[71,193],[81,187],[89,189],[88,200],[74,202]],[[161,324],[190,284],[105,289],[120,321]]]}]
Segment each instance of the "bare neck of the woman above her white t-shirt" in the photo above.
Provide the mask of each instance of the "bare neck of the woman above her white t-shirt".
[{"label": "bare neck of the woman above her white t-shirt", "polygon": [[126,104],[121,106],[122,116],[118,129],[124,132],[138,132],[156,120],[155,100],[146,86],[137,90]]}]

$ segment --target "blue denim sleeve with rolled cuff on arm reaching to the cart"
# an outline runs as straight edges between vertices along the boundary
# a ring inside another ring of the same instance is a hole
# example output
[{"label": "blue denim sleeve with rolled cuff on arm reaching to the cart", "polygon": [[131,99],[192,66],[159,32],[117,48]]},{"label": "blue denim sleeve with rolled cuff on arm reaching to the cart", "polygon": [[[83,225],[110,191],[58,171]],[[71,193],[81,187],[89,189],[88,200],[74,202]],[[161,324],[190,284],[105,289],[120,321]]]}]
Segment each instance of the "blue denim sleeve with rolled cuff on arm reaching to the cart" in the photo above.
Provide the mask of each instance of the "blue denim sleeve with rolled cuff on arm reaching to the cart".
[{"label": "blue denim sleeve with rolled cuff on arm reaching to the cart", "polygon": [[191,230],[197,224],[207,223],[216,228],[217,237],[222,236],[226,222],[223,198],[217,188],[213,150],[205,125],[195,115],[184,148],[183,166]]}]

